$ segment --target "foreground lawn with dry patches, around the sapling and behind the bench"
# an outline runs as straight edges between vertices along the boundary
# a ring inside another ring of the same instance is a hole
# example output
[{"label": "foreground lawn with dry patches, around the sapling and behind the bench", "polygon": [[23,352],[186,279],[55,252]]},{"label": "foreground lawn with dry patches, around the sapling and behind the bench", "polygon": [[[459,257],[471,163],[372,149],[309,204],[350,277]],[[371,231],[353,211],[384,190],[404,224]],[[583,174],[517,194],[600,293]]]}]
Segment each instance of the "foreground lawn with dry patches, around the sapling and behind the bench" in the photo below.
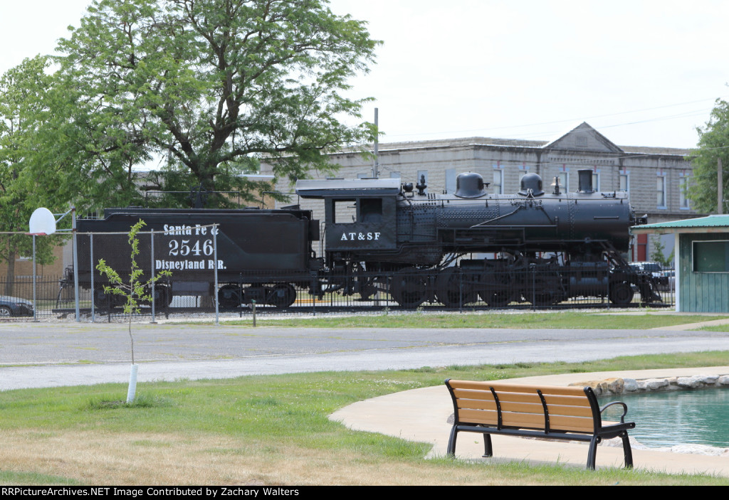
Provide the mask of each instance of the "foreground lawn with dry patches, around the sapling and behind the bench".
[{"label": "foreground lawn with dry patches, around the sapling and behind the bench", "polygon": [[[728,485],[729,478],[555,464],[424,459],[429,445],[354,432],[327,418],[351,402],[445,378],[726,365],[728,352],[582,363],[246,376],[0,393],[0,484]],[[445,389],[444,389],[445,392]],[[639,466],[639,464],[637,464]]]}]

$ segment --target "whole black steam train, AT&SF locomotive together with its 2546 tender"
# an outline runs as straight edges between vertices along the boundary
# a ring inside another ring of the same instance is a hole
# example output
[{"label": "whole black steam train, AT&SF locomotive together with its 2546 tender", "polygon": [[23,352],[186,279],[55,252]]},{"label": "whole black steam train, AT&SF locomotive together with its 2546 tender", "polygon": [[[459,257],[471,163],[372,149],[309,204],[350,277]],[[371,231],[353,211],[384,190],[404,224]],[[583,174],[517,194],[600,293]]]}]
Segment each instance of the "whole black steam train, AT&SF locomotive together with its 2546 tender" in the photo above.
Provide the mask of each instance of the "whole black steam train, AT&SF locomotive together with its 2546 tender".
[{"label": "whole black steam train, AT&SF locomotive together with its 2546 tender", "polygon": [[[636,290],[644,302],[660,301],[652,276],[621,255],[628,251],[629,227],[645,221],[635,217],[624,193],[593,191],[590,170],[580,172],[576,193],[558,183],[545,192],[536,174],[524,175],[518,194],[488,194],[487,188],[477,173],[459,175],[454,194],[427,192],[424,178],[416,186],[399,179],[300,180],[300,197],[324,201],[319,257],[313,251],[319,221],[299,207],[114,209],[104,221],[79,221],[78,231],[128,231],[144,219],[161,240],[154,250],[143,240],[138,260],[173,271],[155,290],[163,302],[217,293],[224,307],[251,301],[287,307],[297,288],[315,297],[389,294],[405,307],[426,301],[546,306],[578,296],[627,304]],[[212,223],[219,224],[217,259],[208,255],[210,232],[200,229]],[[108,250],[120,245],[105,241]],[[80,255],[89,249],[81,242],[79,250],[79,280],[87,284],[92,271]],[[128,258],[116,254],[124,269]],[[211,266],[218,269],[217,290]],[[103,283],[98,273],[95,279]],[[98,299],[108,300],[103,291]]]}]

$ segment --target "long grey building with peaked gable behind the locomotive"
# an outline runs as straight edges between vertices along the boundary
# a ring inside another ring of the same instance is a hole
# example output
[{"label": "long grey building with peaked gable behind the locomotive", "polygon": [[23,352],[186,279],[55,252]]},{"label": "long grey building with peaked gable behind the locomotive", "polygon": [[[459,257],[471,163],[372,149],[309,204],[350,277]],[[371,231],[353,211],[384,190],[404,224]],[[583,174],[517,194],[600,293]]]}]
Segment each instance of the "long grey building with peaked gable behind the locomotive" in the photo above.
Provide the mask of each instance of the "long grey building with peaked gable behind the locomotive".
[{"label": "long grey building with peaked gable behind the locomotive", "polygon": [[[518,191],[519,181],[527,172],[542,176],[545,191],[559,178],[560,186],[577,191],[577,170],[593,170],[593,186],[598,191],[628,191],[637,215],[648,215],[651,223],[674,221],[698,215],[691,208],[682,189],[690,182],[692,167],[685,156],[688,149],[617,146],[587,123],[551,141],[460,138],[424,140],[407,143],[383,143],[379,146],[379,176],[401,178],[417,183],[425,176],[428,190],[452,192],[456,175],[478,172],[491,183],[488,191],[510,194]],[[356,151],[330,155],[340,164],[341,178],[364,178],[373,175],[373,160]],[[263,172],[267,172],[264,165]],[[316,174],[315,174],[316,175]],[[289,186],[281,186],[282,190]],[[323,210],[316,200],[302,200],[323,220]],[[646,234],[636,237],[634,261],[649,260],[652,243]],[[663,241],[666,255],[673,249],[673,239]]]}]

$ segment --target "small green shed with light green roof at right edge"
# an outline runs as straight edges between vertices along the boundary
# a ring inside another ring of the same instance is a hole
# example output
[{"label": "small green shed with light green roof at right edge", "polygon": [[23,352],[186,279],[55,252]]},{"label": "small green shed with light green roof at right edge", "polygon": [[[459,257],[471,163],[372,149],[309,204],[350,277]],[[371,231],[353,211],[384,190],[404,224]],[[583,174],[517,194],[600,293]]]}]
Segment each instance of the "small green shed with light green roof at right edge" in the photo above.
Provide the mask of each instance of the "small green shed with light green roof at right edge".
[{"label": "small green shed with light green roof at right edge", "polygon": [[674,234],[676,310],[729,312],[729,215],[634,226],[634,234]]}]

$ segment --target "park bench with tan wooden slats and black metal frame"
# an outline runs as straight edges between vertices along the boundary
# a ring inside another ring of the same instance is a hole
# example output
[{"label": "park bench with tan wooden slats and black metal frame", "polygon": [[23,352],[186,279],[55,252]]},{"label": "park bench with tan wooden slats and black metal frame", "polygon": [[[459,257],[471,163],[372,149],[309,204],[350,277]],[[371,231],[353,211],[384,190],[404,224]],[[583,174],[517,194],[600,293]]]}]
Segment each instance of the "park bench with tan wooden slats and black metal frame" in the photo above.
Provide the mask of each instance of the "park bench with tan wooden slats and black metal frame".
[{"label": "park bench with tan wooden slats and black metal frame", "polygon": [[[623,440],[625,467],[633,467],[633,453],[625,422],[628,406],[615,401],[600,408],[590,387],[528,386],[445,381],[453,399],[453,429],[448,440],[448,454],[456,454],[459,432],[483,434],[483,456],[493,456],[491,434],[539,437],[550,440],[589,441],[588,469],[595,469],[597,445],[604,439]],[[612,405],[622,405],[620,422],[604,422],[601,413]]]}]

